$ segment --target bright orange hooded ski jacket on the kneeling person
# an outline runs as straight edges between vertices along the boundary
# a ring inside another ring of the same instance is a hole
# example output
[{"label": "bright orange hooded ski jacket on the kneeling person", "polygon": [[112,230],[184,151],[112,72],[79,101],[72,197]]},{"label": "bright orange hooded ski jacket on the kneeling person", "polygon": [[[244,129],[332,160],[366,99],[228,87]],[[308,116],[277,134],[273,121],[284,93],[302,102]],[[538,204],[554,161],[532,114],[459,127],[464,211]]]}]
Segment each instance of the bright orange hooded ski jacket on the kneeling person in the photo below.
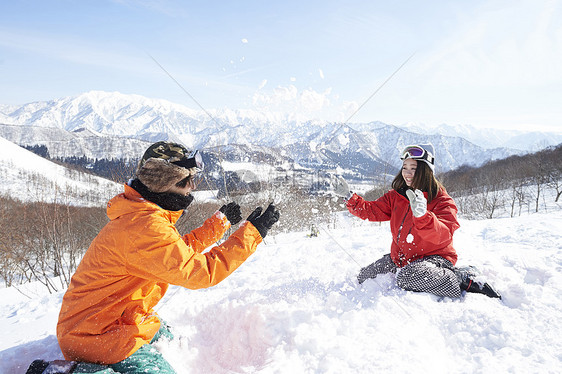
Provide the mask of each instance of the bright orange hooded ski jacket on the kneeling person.
[{"label": "bright orange hooded ski jacket on the kneeling person", "polygon": [[107,204],[110,222],[86,251],[64,295],[57,338],[68,360],[113,364],[149,343],[160,321],[154,306],[169,284],[213,286],[236,270],[262,238],[249,222],[224,243],[230,222],[217,212],[180,236],[182,211],[147,201],[128,185]]}]

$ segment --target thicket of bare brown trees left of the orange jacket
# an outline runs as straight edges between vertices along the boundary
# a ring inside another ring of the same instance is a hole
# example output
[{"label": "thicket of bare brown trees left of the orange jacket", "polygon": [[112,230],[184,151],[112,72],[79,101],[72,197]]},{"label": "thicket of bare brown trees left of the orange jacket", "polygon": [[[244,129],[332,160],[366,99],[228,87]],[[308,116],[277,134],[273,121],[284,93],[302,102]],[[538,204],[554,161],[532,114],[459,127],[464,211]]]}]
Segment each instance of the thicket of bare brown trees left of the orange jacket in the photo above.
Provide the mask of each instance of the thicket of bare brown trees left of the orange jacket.
[{"label": "thicket of bare brown trees left of the orange jacket", "polygon": [[102,208],[9,198],[2,203],[0,276],[7,286],[39,281],[49,292],[66,287],[89,243],[107,222]]}]

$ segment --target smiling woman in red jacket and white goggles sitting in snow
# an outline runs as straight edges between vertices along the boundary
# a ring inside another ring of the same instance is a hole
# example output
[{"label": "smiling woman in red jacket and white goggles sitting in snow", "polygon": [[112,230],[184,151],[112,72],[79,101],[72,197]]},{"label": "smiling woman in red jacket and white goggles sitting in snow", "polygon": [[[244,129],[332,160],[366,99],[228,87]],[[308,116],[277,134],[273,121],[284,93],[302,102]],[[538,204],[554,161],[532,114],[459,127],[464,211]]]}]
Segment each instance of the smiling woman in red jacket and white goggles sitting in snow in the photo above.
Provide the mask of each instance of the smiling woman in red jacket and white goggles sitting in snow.
[{"label": "smiling woman in red jacket and white goggles sitting in snow", "polygon": [[[352,192],[347,209],[369,221],[390,221],[390,254],[361,269],[359,283],[382,273],[396,273],[396,283],[409,291],[457,298],[461,291],[500,295],[487,283],[473,282],[474,268],[456,268],[453,233],[459,228],[455,202],[434,175],[431,144],[408,146],[402,151],[402,170],[392,190],[375,201]],[[341,180],[340,194],[347,189]]]}]

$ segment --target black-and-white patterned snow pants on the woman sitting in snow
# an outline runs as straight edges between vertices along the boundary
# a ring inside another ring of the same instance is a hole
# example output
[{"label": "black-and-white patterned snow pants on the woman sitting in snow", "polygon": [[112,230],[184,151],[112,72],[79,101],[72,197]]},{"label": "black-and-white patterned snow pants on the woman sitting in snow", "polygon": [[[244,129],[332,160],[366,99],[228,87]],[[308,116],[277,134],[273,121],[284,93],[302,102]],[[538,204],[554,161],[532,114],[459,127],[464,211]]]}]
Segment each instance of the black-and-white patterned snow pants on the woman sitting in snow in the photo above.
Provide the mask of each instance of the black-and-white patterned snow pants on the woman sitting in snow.
[{"label": "black-and-white patterned snow pants on the woman sitting in snow", "polygon": [[384,255],[359,272],[357,279],[363,283],[378,274],[395,273],[396,284],[407,291],[428,292],[437,296],[461,296],[460,280],[455,267],[441,256],[428,256],[398,268],[390,254]]}]

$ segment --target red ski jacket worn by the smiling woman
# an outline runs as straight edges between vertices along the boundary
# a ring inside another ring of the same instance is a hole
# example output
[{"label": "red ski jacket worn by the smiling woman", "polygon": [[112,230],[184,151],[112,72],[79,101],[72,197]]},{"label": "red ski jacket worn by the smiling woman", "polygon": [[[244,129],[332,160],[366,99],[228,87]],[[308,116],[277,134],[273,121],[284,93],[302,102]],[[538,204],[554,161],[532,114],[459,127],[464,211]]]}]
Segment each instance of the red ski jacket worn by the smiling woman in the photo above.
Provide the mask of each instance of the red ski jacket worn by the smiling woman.
[{"label": "red ski jacket worn by the smiling woman", "polygon": [[[427,193],[424,192],[424,196],[427,198]],[[414,217],[408,198],[395,190],[375,201],[366,201],[354,194],[347,202],[347,209],[361,219],[390,221],[390,257],[398,267],[433,255],[453,265],[457,262],[453,248],[453,232],[460,227],[457,206],[443,188],[427,204],[427,213],[421,217]]]}]

